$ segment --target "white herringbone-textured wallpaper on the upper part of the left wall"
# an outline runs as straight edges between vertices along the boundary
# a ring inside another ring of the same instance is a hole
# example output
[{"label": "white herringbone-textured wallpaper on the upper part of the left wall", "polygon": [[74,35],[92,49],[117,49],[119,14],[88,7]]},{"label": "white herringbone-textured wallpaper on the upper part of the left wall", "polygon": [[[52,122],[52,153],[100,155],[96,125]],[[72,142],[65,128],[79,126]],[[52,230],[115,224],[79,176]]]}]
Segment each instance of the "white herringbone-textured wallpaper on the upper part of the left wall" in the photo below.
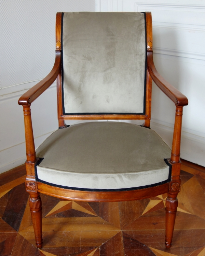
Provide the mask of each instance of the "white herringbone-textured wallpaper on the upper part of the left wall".
[{"label": "white herringbone-textured wallpaper on the upper part of the left wall", "polygon": [[95,0],[0,1],[0,88],[42,79],[51,71],[60,11],[95,11]]}]

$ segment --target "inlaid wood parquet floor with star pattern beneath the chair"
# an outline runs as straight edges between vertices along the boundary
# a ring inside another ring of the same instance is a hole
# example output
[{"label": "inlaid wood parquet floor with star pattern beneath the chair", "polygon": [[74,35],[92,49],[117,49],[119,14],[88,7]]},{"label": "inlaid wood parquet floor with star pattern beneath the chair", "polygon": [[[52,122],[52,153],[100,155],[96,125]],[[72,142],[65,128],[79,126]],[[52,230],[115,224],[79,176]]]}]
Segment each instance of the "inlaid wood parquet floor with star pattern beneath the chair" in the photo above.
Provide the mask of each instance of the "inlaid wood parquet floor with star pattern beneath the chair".
[{"label": "inlaid wood parquet floor with star pattern beneath the chair", "polygon": [[[186,162],[183,162],[186,164]],[[166,194],[129,202],[65,201],[41,194],[43,248],[35,245],[25,166],[0,175],[1,256],[204,256],[205,168],[181,167],[172,248],[166,249]]]}]

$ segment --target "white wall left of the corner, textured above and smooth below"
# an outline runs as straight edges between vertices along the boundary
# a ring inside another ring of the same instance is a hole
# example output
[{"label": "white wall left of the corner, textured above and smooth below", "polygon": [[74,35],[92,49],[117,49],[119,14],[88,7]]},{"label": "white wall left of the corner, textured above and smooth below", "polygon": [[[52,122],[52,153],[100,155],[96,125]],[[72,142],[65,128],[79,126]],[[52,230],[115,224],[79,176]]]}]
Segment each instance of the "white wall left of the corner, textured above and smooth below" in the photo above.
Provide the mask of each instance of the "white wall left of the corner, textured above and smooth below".
[{"label": "white wall left of the corner, textured above and smooth below", "polygon": [[[18,98],[53,67],[60,11],[95,11],[95,0],[0,1],[0,173],[25,162]],[[31,113],[37,147],[58,127],[55,83],[32,103]]]}]

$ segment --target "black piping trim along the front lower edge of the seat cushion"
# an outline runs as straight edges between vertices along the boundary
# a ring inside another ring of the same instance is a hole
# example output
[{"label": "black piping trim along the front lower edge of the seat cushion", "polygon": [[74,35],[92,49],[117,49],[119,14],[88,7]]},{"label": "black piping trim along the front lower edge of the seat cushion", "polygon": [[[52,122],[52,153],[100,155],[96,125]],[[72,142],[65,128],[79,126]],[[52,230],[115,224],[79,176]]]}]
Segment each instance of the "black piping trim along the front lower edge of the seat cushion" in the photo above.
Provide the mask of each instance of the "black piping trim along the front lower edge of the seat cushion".
[{"label": "black piping trim along the front lower edge of the seat cushion", "polygon": [[159,186],[165,183],[169,183],[171,180],[171,175],[172,175],[172,165],[168,163],[167,159],[164,159],[165,163],[169,166],[169,176],[168,179],[162,182],[158,182],[155,184],[151,185],[146,185],[146,186],[140,186],[140,187],[132,187],[132,188],[119,188],[119,189],[97,189],[97,188],[77,188],[77,187],[67,187],[67,186],[61,186],[61,185],[56,185],[50,182],[42,181],[41,179],[38,178],[37,174],[37,165],[39,165],[44,158],[40,158],[39,162],[35,164],[35,176],[36,176],[36,181],[44,183],[46,185],[52,186],[52,187],[57,187],[57,188],[65,188],[65,189],[71,189],[71,190],[78,190],[78,191],[90,191],[90,192],[114,192],[114,191],[130,191],[130,190],[138,190],[138,189],[143,189],[143,188],[150,188],[150,187],[155,187]]}]

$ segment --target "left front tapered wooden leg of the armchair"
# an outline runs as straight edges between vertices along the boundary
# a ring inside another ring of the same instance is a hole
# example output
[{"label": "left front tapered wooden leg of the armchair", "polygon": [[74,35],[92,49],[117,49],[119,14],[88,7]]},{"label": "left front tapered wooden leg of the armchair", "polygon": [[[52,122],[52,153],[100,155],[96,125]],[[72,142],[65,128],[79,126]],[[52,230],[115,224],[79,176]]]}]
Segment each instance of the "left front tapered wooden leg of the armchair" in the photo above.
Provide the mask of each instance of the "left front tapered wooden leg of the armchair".
[{"label": "left front tapered wooden leg of the armchair", "polygon": [[33,229],[36,238],[37,248],[42,248],[42,207],[41,207],[41,198],[39,193],[30,194],[29,206],[31,211],[31,217],[33,222]]}]

